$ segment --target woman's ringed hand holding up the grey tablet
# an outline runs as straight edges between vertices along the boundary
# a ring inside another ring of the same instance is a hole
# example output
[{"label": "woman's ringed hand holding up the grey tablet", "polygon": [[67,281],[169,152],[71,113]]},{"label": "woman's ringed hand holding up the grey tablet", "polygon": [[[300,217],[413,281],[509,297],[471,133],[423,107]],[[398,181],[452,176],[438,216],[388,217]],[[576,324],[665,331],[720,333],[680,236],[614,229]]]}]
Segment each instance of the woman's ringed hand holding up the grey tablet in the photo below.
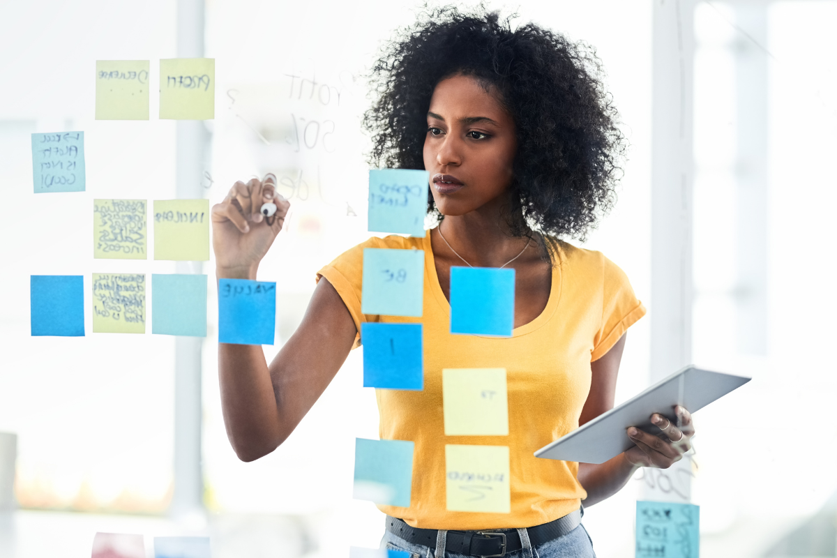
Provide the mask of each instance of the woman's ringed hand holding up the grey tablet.
[{"label": "woman's ringed hand holding up the grey tablet", "polygon": [[680,461],[683,454],[691,449],[691,437],[695,435],[695,427],[691,423],[691,414],[680,405],[675,406],[675,415],[679,428],[658,413],[651,415],[651,423],[659,427],[667,439],[637,427],[629,427],[628,438],[636,446],[624,453],[625,458],[636,466],[655,468],[669,468]]}]

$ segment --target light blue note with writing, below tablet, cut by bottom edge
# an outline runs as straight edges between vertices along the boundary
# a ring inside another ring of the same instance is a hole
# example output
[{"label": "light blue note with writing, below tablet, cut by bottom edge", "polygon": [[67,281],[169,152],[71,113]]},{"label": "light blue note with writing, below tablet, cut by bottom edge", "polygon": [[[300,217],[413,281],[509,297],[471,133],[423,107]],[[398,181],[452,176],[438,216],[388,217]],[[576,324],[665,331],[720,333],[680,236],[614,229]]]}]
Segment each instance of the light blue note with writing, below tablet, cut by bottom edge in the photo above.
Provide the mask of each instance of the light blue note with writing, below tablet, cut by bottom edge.
[{"label": "light blue note with writing, below tablet, cut by bottom edge", "polygon": [[636,558],[697,558],[700,507],[668,502],[636,503]]}]

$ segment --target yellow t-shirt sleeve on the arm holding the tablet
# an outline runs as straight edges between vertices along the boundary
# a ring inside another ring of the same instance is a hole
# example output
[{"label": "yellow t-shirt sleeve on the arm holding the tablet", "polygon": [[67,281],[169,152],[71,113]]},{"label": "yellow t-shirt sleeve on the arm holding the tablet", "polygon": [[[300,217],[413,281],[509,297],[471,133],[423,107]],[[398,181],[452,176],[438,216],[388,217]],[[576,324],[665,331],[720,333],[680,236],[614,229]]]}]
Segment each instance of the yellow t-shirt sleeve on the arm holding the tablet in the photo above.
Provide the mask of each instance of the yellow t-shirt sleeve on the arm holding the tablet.
[{"label": "yellow t-shirt sleeve on the arm holding the tablet", "polygon": [[602,321],[593,339],[591,361],[605,356],[625,331],[645,315],[645,307],[618,265],[604,258],[602,275]]}]

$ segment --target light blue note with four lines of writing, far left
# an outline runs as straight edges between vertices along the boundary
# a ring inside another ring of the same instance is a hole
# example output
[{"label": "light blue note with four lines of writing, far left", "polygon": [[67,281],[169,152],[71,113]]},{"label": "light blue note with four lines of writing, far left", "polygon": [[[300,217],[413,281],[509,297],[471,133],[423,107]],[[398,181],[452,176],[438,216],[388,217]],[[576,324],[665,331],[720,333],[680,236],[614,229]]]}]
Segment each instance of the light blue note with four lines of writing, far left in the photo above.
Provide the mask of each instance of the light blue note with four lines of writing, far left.
[{"label": "light blue note with four lines of writing, far left", "polygon": [[35,193],[85,191],[85,132],[32,135]]}]

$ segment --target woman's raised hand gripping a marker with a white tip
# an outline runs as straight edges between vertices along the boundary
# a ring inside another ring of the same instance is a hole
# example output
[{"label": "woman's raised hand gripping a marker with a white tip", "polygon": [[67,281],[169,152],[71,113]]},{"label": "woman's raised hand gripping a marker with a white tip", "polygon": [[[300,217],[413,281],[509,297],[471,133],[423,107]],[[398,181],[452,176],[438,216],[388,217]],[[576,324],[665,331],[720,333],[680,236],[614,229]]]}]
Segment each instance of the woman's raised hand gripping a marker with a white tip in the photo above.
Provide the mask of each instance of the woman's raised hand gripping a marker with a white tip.
[{"label": "woman's raised hand gripping a marker with a white tip", "polygon": [[[276,212],[262,215],[264,203]],[[282,230],[290,202],[276,193],[276,177],[236,182],[227,197],[212,208],[213,249],[218,278],[255,279],[256,269]]]}]

